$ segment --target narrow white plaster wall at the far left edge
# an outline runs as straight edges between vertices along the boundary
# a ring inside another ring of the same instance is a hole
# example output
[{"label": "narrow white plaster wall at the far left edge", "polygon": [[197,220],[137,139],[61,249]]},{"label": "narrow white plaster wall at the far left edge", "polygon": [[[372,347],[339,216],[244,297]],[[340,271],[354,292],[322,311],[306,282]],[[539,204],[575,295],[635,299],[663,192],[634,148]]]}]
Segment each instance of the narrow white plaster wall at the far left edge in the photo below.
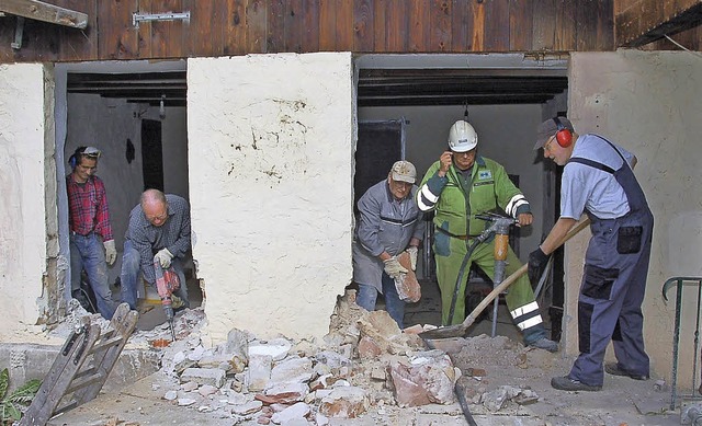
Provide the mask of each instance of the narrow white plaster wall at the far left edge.
[{"label": "narrow white plaster wall at the far left edge", "polygon": [[[0,66],[0,341],[22,341],[43,304],[47,230],[45,112],[49,71],[42,65]],[[46,82],[45,82],[46,79]],[[50,105],[50,103],[49,103]],[[53,139],[52,139],[53,140]],[[50,157],[48,157],[50,162]],[[54,215],[54,218],[50,215]]]}]

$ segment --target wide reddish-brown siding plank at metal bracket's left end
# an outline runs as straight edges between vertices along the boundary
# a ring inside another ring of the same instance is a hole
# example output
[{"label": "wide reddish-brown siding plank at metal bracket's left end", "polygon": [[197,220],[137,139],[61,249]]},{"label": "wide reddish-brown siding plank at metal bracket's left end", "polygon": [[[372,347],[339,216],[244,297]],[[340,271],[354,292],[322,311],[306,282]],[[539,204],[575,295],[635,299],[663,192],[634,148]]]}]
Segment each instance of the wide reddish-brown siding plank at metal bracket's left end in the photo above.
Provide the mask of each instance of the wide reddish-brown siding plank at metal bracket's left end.
[{"label": "wide reddish-brown siding plank at metal bracket's left end", "polygon": [[[98,2],[98,57],[100,59],[136,59],[139,42],[132,25],[132,13],[138,10],[138,0]],[[109,23],[109,24],[107,24]]]}]

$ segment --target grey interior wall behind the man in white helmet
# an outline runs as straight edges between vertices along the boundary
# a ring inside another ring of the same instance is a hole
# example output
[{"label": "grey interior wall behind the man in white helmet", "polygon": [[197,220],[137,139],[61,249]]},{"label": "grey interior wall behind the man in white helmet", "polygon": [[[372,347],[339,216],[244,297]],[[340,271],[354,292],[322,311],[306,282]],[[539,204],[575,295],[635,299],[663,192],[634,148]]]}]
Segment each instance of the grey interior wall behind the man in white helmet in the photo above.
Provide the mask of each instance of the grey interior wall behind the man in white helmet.
[{"label": "grey interior wall behind the man in white helmet", "polygon": [[[359,120],[409,120],[406,126],[406,158],[417,168],[420,179],[448,147],[449,129],[464,118],[463,106],[363,107]],[[534,166],[533,151],[536,126],[541,123],[541,105],[474,105],[468,107],[468,122],[478,134],[480,154],[498,161],[507,173],[518,174],[520,188],[526,195],[536,220],[521,230],[520,258],[541,242],[542,176],[541,165]],[[537,163],[541,164],[541,163]]]}]

